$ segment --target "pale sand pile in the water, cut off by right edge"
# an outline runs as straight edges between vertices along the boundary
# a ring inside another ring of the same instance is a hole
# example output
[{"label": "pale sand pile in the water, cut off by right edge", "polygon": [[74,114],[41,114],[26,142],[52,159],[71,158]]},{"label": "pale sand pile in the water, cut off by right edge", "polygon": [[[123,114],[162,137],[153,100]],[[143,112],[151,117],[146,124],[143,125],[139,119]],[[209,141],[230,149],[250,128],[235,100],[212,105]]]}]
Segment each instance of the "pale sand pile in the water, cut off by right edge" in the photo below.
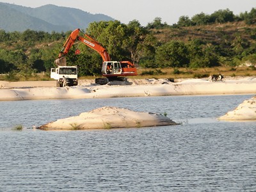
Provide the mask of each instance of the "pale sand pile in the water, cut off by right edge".
[{"label": "pale sand pile in the water, cut off by right edge", "polygon": [[244,100],[234,111],[229,111],[220,120],[256,120],[256,97]]}]

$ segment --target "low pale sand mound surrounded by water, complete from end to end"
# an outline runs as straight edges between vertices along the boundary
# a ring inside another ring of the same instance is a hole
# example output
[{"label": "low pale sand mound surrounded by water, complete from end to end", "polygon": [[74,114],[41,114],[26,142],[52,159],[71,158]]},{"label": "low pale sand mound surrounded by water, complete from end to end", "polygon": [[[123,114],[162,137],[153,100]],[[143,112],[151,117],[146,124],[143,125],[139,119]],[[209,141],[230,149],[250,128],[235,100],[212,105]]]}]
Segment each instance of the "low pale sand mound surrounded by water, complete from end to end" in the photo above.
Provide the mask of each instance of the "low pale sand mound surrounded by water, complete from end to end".
[{"label": "low pale sand mound surrounded by water, complete from end to end", "polygon": [[103,107],[79,116],[63,118],[38,129],[74,130],[74,129],[111,129],[124,127],[150,127],[177,125],[170,118],[156,113],[131,111],[124,108]]}]

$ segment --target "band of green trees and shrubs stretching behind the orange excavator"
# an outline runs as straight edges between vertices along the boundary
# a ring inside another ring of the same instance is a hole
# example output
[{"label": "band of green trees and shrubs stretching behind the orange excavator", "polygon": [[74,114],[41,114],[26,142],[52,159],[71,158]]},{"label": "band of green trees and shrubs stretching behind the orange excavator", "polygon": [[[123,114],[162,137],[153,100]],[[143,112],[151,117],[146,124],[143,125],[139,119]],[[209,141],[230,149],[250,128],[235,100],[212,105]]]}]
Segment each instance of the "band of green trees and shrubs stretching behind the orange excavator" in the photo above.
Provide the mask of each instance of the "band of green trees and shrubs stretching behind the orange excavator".
[{"label": "band of green trees and shrubs stretching behind the orange excavator", "polygon": [[[204,35],[209,36],[207,25],[225,22],[244,22],[252,27],[232,31],[235,33],[221,29],[214,32],[214,39],[204,38]],[[159,17],[146,27],[138,20],[129,24],[118,20],[92,22],[85,32],[106,48],[111,60],[130,60],[143,68],[196,68],[236,66],[244,61],[256,63],[255,24],[256,9],[253,8],[239,16],[230,10],[219,10],[211,15],[200,13],[191,19],[182,16],[173,26],[162,23]],[[200,31],[203,36],[186,41],[172,38],[163,41],[158,37],[163,31],[170,34],[178,31],[186,36],[187,28],[193,26],[206,26]],[[33,72],[49,71],[70,33],[0,30],[0,73],[19,72],[26,77]],[[76,54],[77,49],[80,54]],[[78,43],[70,49],[67,62],[79,66],[80,76],[94,76],[100,74],[102,59],[97,52]]]}]

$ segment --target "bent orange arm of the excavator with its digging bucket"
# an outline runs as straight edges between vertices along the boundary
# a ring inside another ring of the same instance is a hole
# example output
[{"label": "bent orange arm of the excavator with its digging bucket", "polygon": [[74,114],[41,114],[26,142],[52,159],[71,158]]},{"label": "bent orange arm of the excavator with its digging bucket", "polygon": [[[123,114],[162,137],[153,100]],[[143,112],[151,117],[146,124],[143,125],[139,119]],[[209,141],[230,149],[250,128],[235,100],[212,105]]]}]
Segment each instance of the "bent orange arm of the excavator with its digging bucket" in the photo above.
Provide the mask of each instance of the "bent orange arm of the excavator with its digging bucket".
[{"label": "bent orange arm of the excavator with its digging bucket", "polygon": [[68,36],[67,41],[65,42],[65,44],[63,45],[63,48],[61,49],[58,59],[54,61],[56,65],[62,65],[62,66],[66,65],[65,56],[68,54],[68,51],[77,40],[87,45],[91,49],[97,51],[102,57],[103,61],[110,61],[110,56],[108,52],[106,51],[106,49],[104,49],[104,47],[102,47],[99,44],[99,42],[94,40],[92,37],[86,35],[85,33],[83,33],[84,36],[79,36],[80,32],[83,33],[83,31],[81,31],[80,29],[76,29],[72,31],[72,33]]}]

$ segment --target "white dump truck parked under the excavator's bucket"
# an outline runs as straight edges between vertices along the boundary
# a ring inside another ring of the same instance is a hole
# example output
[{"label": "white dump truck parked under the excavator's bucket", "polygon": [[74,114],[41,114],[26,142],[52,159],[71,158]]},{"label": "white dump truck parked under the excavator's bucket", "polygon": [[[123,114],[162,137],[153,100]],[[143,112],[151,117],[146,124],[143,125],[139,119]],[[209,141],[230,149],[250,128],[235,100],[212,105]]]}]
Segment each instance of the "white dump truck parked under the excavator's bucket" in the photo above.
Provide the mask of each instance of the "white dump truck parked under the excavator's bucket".
[{"label": "white dump truck parked under the excavator's bucket", "polygon": [[[63,82],[63,76],[67,79],[67,83]],[[77,66],[58,66],[57,68],[51,68],[51,78],[56,80],[56,86],[60,87],[76,86],[78,84],[77,78]]]}]

